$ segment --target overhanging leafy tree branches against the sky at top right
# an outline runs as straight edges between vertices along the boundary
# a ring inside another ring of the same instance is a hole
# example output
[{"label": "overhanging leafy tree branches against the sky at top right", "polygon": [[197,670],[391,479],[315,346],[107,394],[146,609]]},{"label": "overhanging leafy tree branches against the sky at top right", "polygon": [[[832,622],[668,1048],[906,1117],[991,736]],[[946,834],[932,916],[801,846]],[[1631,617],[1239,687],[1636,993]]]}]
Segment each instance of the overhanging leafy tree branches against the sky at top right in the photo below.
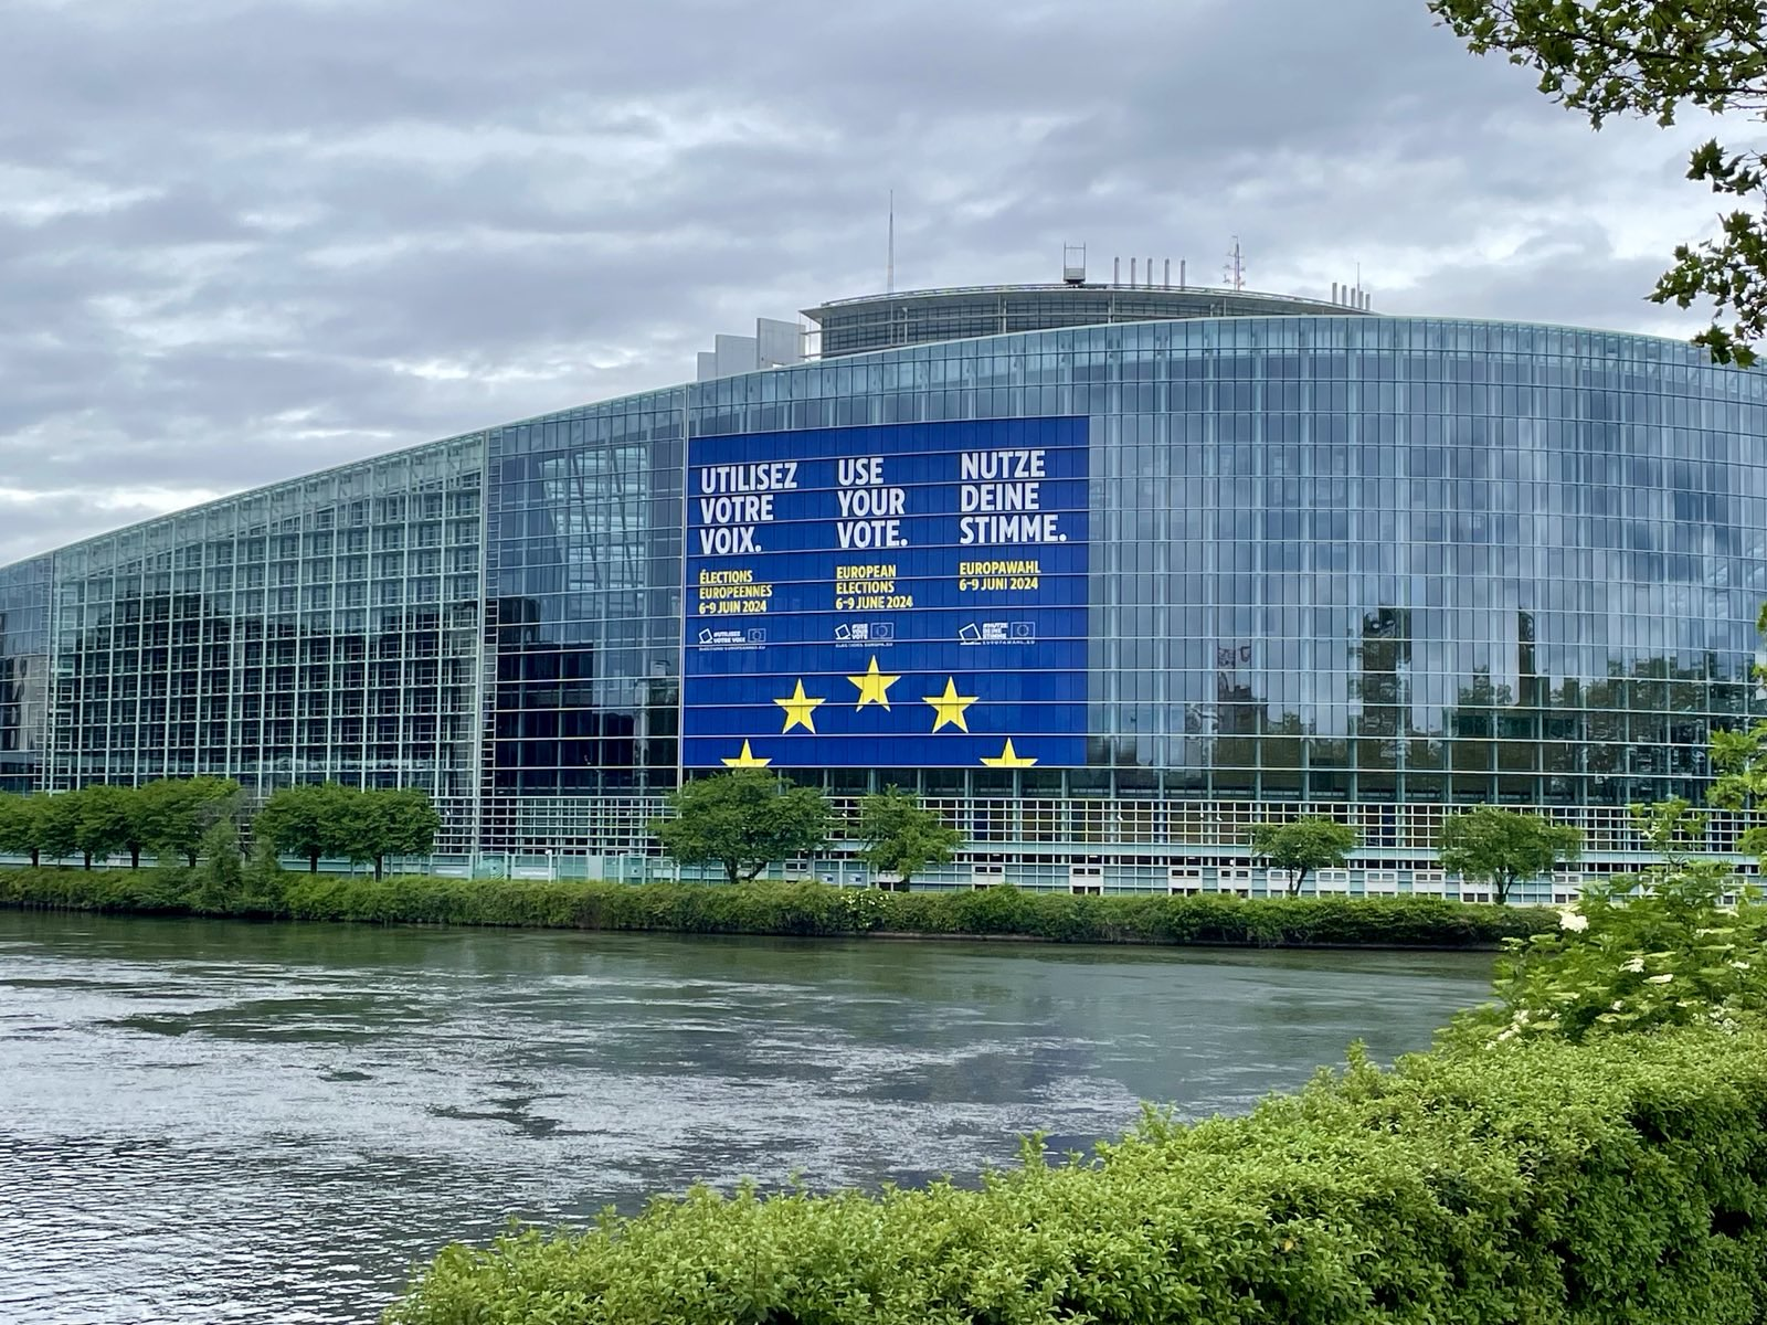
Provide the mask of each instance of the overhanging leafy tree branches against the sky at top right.
[{"label": "overhanging leafy tree branches against the sky at top right", "polygon": [[[1762,0],[1430,0],[1430,11],[1472,51],[1536,71],[1541,92],[1597,129],[1622,115],[1668,125],[1684,110],[1767,113]],[[1748,366],[1767,334],[1767,155],[1710,140],[1687,178],[1744,205],[1719,217],[1718,238],[1677,247],[1650,299],[1710,299],[1718,322],[1695,341]]]}]

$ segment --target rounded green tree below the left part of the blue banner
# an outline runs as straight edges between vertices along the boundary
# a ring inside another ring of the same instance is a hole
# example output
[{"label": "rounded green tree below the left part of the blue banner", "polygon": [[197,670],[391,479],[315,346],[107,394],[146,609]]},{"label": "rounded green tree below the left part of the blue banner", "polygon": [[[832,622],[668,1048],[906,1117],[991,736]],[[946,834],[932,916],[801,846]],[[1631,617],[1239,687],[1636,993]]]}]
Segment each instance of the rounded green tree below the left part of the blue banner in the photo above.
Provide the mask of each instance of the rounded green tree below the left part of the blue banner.
[{"label": "rounded green tree below the left part of the blue banner", "polygon": [[663,850],[682,864],[717,860],[732,883],[829,841],[827,797],[758,768],[696,777],[670,795],[670,809],[650,822]]}]

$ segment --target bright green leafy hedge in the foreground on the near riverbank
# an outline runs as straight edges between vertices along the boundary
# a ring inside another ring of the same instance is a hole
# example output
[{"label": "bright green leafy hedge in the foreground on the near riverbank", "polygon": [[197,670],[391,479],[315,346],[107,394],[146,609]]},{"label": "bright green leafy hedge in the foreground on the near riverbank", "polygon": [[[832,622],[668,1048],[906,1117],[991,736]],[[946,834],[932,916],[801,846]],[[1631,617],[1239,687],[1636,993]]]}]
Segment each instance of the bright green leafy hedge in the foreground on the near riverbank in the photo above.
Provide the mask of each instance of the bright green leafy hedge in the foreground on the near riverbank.
[{"label": "bright green leafy hedge in the foreground on the near riverbank", "polygon": [[1090,1161],[449,1247],[389,1325],[1758,1321],[1767,1037],[1364,1062]]}]

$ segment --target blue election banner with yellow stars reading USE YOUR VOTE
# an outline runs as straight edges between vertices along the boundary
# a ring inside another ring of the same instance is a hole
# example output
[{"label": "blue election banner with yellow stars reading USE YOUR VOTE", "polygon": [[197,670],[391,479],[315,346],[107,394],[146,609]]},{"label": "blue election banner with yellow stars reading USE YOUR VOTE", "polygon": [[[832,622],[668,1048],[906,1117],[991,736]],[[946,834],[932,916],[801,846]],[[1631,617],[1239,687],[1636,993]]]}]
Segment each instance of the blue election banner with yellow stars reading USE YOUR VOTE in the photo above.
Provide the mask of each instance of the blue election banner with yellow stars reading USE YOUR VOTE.
[{"label": "blue election banner with yellow stars reading USE YOUR VOTE", "polygon": [[689,768],[1085,763],[1087,420],[687,447]]}]

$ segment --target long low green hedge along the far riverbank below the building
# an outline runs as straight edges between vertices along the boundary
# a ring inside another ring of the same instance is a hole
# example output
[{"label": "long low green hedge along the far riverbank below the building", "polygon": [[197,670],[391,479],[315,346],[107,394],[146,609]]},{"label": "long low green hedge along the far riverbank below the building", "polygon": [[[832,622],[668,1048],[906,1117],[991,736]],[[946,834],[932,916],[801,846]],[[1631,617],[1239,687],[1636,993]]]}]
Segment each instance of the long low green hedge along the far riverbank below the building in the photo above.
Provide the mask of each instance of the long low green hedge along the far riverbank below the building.
[{"label": "long low green hedge along the far riverbank below the building", "polygon": [[270,915],[373,924],[661,929],[694,935],[982,935],[1062,943],[1343,943],[1495,947],[1557,913],[1431,897],[1094,897],[876,892],[825,883],[585,883],[262,874],[217,889],[201,869],[0,869],[0,905],[90,912]]}]

